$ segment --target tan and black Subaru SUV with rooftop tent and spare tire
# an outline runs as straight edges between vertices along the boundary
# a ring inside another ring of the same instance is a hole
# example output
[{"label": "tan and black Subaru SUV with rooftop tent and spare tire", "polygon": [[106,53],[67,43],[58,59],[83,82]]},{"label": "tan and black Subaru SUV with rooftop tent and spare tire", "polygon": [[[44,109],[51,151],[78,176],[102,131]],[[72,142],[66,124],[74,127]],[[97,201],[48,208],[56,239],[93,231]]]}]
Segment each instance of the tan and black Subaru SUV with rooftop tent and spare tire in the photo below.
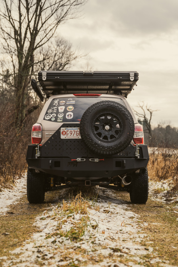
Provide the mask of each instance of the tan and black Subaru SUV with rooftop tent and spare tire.
[{"label": "tan and black Subaru SUV with rooftop tent and spare tire", "polygon": [[137,72],[38,73],[32,87],[48,100],[27,151],[30,203],[74,185],[124,190],[146,203],[148,148],[126,100],[137,80]]}]

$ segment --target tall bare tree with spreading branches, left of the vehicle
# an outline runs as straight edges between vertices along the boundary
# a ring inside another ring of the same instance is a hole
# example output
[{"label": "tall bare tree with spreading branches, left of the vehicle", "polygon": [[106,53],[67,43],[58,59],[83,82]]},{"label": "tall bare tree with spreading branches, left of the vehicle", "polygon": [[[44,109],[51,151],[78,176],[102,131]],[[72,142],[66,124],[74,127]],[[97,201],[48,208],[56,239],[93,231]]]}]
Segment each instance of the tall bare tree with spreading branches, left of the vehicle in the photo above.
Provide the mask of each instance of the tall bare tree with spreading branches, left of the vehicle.
[{"label": "tall bare tree with spreading branches, left of the vehicle", "polygon": [[[34,54],[54,37],[58,26],[75,18],[87,0],[2,0],[0,34],[6,61],[11,63],[9,85],[14,88],[16,124],[26,114],[28,84],[35,64],[44,60]],[[54,66],[55,62],[53,63]]]}]

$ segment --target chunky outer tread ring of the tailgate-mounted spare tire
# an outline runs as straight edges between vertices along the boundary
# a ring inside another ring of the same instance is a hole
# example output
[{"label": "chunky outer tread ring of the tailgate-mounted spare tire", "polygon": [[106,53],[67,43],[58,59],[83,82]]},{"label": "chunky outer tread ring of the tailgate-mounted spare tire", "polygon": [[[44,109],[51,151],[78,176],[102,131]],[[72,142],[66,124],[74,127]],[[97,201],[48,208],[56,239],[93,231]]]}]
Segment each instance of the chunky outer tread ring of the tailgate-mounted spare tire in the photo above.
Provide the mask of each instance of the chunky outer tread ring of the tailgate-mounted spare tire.
[{"label": "chunky outer tread ring of the tailgate-mounted spare tire", "polygon": [[[106,146],[105,148],[102,148],[102,147],[99,147],[99,144],[97,144],[91,138],[89,133],[87,133],[86,124],[87,124],[87,121],[91,118],[91,112],[93,110],[97,109],[98,107],[102,107],[102,106],[112,107],[118,111],[125,113],[125,116],[127,117],[127,120],[129,121],[129,124],[130,124],[130,130],[128,132],[127,139],[124,142],[121,142],[118,140],[117,144],[110,145],[110,147]],[[82,116],[81,122],[80,122],[80,134],[81,134],[82,139],[85,141],[85,143],[89,147],[89,149],[91,149],[92,151],[94,151],[97,154],[102,154],[102,155],[112,155],[112,154],[116,154],[116,153],[123,151],[131,143],[131,141],[133,139],[134,132],[135,132],[135,124],[134,124],[133,117],[132,117],[131,113],[123,105],[121,105],[117,102],[114,102],[114,101],[100,101],[100,102],[97,102],[97,103],[91,105],[83,113],[83,116]]]}]

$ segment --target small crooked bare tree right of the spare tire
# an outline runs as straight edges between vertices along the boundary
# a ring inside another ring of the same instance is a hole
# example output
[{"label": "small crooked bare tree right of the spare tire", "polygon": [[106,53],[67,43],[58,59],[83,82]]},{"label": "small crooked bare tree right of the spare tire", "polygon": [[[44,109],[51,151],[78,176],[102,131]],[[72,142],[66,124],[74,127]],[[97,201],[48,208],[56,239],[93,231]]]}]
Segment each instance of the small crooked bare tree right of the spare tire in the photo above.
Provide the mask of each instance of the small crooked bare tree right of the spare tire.
[{"label": "small crooked bare tree right of the spare tire", "polygon": [[141,108],[141,113],[138,112],[137,110],[134,110],[134,112],[135,112],[135,114],[139,117],[139,119],[143,122],[143,124],[146,127],[145,132],[148,133],[148,139],[149,139],[149,144],[150,144],[151,139],[152,139],[152,129],[151,129],[152,114],[153,114],[153,112],[158,111],[158,109],[152,110],[146,104],[146,110],[149,112],[149,117],[148,117],[146,115],[146,110],[145,110],[144,105],[145,105],[144,101],[142,101],[142,104],[138,103],[138,106],[137,107],[138,108]]}]

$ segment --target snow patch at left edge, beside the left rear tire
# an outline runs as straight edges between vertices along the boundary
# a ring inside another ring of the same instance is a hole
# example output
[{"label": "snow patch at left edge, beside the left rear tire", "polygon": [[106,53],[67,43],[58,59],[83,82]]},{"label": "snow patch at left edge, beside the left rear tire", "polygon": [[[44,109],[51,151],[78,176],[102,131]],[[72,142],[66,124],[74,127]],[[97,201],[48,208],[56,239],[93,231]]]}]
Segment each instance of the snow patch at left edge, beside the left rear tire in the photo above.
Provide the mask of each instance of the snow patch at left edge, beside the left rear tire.
[{"label": "snow patch at left edge, beside the left rear tire", "polygon": [[26,194],[26,174],[22,178],[15,181],[15,185],[11,188],[5,188],[0,192],[0,215],[6,214],[11,204],[17,204],[18,200]]}]

